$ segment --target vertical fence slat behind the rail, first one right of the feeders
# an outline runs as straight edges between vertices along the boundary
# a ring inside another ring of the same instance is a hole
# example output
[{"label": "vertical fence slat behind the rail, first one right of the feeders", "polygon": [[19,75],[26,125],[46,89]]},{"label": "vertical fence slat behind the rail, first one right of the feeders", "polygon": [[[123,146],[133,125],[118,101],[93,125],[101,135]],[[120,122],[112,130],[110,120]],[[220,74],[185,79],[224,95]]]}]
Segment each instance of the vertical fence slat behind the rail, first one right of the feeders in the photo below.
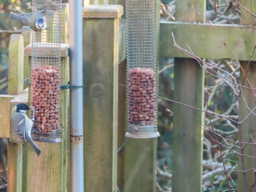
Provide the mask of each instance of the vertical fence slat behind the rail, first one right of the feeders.
[{"label": "vertical fence slat behind the rail, first one right of the feeders", "polygon": [[[176,1],[176,20],[204,22],[205,0]],[[175,34],[174,34],[175,35]],[[174,59],[174,100],[203,109],[204,71],[193,59]],[[203,114],[173,106],[173,192],[202,191]]]}]

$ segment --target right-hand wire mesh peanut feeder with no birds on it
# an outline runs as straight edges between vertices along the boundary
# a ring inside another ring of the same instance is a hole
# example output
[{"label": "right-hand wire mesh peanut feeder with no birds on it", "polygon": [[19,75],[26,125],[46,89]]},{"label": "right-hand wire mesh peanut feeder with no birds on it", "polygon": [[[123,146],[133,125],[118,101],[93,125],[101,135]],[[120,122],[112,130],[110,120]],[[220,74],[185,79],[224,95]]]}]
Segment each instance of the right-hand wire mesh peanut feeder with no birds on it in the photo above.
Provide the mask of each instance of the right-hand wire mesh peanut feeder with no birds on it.
[{"label": "right-hand wire mesh peanut feeder with no birds on it", "polygon": [[157,132],[154,0],[126,0],[128,132],[155,138]]}]

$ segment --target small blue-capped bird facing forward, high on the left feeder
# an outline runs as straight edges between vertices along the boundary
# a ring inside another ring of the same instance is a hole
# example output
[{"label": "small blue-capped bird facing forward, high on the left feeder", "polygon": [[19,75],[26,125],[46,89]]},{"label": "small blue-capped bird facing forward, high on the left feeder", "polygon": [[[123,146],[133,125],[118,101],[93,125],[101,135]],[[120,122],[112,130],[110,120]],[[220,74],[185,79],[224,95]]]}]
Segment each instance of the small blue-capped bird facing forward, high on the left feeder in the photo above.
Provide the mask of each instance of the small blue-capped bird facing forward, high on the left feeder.
[{"label": "small blue-capped bird facing forward, high on the left feeder", "polygon": [[23,13],[19,15],[11,12],[10,19],[22,21],[34,31],[42,31],[47,29],[47,21],[45,16],[42,14],[44,11],[45,9],[38,13]]}]

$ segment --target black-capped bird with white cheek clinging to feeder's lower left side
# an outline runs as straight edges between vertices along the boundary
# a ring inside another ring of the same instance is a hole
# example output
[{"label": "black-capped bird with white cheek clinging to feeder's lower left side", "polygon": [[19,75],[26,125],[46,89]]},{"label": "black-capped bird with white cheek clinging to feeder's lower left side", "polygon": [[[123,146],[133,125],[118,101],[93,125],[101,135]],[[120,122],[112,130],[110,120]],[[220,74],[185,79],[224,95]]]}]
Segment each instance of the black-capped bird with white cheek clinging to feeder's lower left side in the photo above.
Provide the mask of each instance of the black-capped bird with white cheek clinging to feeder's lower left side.
[{"label": "black-capped bird with white cheek clinging to feeder's lower left side", "polygon": [[16,105],[11,112],[11,126],[12,128],[15,128],[15,132],[23,140],[23,143],[25,144],[27,140],[34,149],[35,153],[39,155],[41,150],[31,138],[33,121],[27,117],[26,114],[27,110],[29,109],[30,108],[24,103],[19,103]]}]

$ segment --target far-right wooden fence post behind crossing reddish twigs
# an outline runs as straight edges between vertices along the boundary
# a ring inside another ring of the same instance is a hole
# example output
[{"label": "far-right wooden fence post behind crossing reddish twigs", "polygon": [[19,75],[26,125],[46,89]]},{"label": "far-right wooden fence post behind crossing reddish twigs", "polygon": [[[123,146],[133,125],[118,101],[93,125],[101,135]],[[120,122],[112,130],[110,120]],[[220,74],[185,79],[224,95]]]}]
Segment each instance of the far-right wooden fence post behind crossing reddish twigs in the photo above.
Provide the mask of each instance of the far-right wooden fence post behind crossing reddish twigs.
[{"label": "far-right wooden fence post behind crossing reddish twigs", "polygon": [[[246,1],[241,0],[240,1],[242,5],[247,7],[250,11],[253,13],[256,12],[256,2],[255,1]],[[241,9],[241,25],[256,25],[256,18],[250,15],[248,12],[246,12],[244,9]],[[251,51],[253,50],[253,47],[248,48]],[[244,71],[246,71],[246,68],[248,66],[248,61],[240,61]],[[248,67],[247,76],[251,82],[251,85],[253,88],[256,88],[256,62],[252,61]],[[244,74],[242,70],[240,70],[240,82],[242,83],[244,81]],[[245,80],[244,86],[249,87],[249,84],[247,80]],[[242,89],[242,93],[244,94],[245,101],[248,104],[249,108],[252,110],[255,108],[255,97],[253,96],[252,90],[250,89]],[[246,104],[242,98],[242,95],[240,96],[240,117],[239,120],[243,120],[248,114],[249,110],[246,107]],[[255,112],[255,111],[254,111]],[[242,142],[248,142],[249,139],[251,139],[250,135],[255,135],[255,124],[256,124],[256,116],[251,114],[244,123],[241,125],[241,134],[242,134]],[[240,151],[239,151],[240,152]],[[250,155],[252,157],[255,157],[255,146],[254,145],[247,145],[244,148],[244,154]],[[245,160],[245,170],[252,169],[254,167],[254,161],[255,159],[244,157]],[[238,155],[238,170],[242,170],[242,161],[241,161],[241,155]],[[255,183],[253,178],[253,171],[246,172],[246,181],[248,185],[248,190],[251,189],[252,185]],[[246,192],[245,191],[245,185],[244,185],[244,177],[243,173],[238,172],[237,173],[237,191],[239,192]]]}]

